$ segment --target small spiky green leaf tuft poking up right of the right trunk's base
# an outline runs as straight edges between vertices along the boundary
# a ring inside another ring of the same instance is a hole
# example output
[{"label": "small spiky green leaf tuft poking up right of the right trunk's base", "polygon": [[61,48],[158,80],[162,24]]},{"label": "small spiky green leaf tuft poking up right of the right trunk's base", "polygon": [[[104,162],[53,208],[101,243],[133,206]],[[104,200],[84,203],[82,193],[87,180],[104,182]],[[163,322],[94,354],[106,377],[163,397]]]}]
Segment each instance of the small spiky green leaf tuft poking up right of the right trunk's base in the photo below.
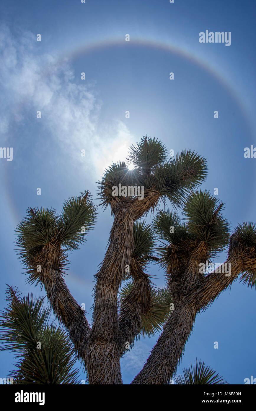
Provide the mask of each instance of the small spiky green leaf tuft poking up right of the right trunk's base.
[{"label": "small spiky green leaf tuft poking up right of the right trunk's base", "polygon": [[216,371],[206,366],[204,362],[196,359],[196,362],[188,368],[183,369],[183,375],[175,377],[176,384],[211,384],[211,385],[225,385],[228,384],[222,376],[217,374]]}]

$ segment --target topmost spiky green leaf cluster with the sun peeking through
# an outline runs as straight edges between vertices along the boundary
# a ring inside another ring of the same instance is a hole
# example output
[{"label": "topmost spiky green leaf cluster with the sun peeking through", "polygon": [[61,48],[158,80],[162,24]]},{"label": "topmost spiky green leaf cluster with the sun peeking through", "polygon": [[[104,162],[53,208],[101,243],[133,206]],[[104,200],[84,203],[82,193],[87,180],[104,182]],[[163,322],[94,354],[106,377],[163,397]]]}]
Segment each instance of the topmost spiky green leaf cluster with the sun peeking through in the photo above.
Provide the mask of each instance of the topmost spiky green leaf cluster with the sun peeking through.
[{"label": "topmost spiky green leaf cluster with the sun peeking through", "polygon": [[[128,163],[112,164],[99,182],[101,204],[111,206],[120,198],[112,196],[112,187],[137,185],[144,187],[144,197],[155,194],[174,206],[181,205],[184,196],[195,189],[206,177],[206,159],[194,151],[184,150],[167,160],[165,145],[155,138],[144,138],[132,145],[128,161],[135,165],[129,171]],[[129,199],[128,197],[126,199]]]}]

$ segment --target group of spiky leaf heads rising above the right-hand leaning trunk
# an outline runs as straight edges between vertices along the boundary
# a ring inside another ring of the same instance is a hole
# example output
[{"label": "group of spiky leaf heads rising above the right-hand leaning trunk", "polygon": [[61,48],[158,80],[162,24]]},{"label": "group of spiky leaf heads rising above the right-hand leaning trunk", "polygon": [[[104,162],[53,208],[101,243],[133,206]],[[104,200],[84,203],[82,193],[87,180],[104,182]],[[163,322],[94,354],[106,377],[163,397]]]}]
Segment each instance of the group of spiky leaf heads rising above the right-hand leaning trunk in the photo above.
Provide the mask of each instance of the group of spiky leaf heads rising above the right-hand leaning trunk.
[{"label": "group of spiky leaf heads rising above the right-hand leaning trunk", "polygon": [[[181,223],[177,212],[159,211],[153,221],[158,238],[160,266],[165,268],[167,280],[179,275],[189,263],[190,256],[210,260],[222,251],[229,241],[229,223],[221,214],[223,203],[218,204],[208,191],[192,192],[183,208],[187,221]],[[200,257],[199,257],[200,258]]]}]

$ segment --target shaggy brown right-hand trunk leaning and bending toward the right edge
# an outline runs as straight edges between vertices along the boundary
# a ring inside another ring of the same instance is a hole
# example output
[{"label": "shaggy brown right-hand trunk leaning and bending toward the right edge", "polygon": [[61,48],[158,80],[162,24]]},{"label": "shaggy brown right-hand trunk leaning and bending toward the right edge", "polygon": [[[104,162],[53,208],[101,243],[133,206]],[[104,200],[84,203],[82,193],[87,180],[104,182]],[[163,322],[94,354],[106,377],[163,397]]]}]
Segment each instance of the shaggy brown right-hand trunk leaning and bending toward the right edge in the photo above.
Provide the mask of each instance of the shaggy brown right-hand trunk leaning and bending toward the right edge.
[{"label": "shaggy brown right-hand trunk leaning and bending toward the right edge", "polygon": [[[174,302],[174,312],[165,324],[146,364],[131,384],[167,384],[178,367],[196,314],[211,304],[241,272],[256,268],[254,256],[248,258],[240,252],[238,244],[234,247],[234,242],[235,239],[231,236],[228,259],[221,267],[206,277],[195,275],[196,282],[192,282],[190,287],[185,285],[181,292],[185,296],[178,303]],[[225,272],[225,264],[229,263],[230,276]],[[177,289],[177,284],[175,288]]]}]

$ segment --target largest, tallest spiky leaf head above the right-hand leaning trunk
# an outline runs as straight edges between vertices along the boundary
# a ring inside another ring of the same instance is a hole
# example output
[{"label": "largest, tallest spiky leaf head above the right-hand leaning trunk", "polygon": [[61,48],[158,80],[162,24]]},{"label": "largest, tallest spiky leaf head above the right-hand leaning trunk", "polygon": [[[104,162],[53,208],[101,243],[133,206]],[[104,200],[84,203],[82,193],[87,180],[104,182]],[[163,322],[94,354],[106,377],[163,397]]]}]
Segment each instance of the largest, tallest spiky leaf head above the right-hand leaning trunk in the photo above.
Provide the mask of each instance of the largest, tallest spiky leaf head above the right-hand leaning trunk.
[{"label": "largest, tallest spiky leaf head above the right-hand leaning trunk", "polygon": [[209,191],[200,190],[190,194],[183,208],[189,231],[207,244],[212,255],[223,251],[229,242],[230,225],[221,213],[223,206]]}]

